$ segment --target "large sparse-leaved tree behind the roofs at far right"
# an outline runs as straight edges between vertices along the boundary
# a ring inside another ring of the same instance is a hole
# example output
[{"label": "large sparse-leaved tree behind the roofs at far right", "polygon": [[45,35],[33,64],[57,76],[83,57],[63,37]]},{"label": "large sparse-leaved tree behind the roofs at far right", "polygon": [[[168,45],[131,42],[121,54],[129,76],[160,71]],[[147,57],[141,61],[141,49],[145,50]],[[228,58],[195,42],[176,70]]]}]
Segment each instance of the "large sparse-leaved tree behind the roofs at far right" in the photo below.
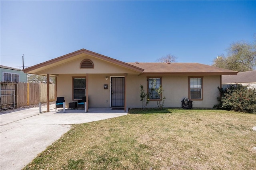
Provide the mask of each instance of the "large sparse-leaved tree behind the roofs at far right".
[{"label": "large sparse-leaved tree behind the roofs at far right", "polygon": [[227,57],[218,56],[212,66],[235,70],[238,72],[256,69],[256,44],[238,41],[228,48]]}]

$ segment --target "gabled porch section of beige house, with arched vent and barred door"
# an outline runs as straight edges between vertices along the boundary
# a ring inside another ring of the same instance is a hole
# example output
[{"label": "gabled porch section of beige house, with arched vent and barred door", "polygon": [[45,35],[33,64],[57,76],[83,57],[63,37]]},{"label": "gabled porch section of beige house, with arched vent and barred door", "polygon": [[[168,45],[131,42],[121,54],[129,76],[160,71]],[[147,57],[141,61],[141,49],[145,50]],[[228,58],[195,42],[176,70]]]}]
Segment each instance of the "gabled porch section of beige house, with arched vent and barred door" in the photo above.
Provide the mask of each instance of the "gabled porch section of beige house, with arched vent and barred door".
[{"label": "gabled porch section of beige house, with arched vent and barred door", "polygon": [[47,111],[49,80],[56,77],[56,97],[64,97],[66,107],[86,97],[88,107],[111,107],[126,111],[127,76],[138,76],[144,69],[81,49],[40,63],[23,71],[47,76]]}]

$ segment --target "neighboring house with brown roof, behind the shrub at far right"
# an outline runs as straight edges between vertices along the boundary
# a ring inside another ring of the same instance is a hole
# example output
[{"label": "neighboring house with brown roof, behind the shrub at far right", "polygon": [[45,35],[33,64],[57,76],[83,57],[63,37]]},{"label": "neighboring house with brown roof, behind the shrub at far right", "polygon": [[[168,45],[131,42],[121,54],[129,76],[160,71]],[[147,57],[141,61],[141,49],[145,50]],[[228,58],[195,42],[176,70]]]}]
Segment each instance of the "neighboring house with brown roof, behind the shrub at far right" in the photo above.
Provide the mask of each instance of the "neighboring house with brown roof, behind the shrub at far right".
[{"label": "neighboring house with brown roof, behind the shrub at far right", "polygon": [[242,84],[248,88],[256,88],[256,70],[238,72],[237,75],[223,75],[222,88],[229,88],[234,84]]}]

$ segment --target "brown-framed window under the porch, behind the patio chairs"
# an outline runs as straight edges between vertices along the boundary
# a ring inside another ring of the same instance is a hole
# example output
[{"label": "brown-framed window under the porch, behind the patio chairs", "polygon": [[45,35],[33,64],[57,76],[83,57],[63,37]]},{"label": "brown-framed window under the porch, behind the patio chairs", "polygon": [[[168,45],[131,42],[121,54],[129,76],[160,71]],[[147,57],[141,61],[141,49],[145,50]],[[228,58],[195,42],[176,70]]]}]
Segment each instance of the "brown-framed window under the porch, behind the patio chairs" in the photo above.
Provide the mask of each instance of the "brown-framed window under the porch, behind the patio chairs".
[{"label": "brown-framed window under the porch, behind the patio chairs", "polygon": [[72,77],[73,79],[73,100],[82,100],[86,96],[86,78]]}]

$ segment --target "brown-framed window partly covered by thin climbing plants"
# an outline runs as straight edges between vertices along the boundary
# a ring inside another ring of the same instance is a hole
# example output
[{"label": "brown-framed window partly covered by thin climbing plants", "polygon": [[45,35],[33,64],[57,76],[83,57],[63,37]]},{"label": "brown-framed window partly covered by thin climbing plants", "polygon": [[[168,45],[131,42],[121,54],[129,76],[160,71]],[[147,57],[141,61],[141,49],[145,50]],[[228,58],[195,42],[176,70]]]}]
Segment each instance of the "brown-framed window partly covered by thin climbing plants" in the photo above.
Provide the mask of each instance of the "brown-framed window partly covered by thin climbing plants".
[{"label": "brown-framed window partly covered by thin climbing plants", "polygon": [[150,100],[161,100],[161,97],[156,90],[159,89],[162,84],[160,77],[157,78],[148,78],[148,97]]}]

